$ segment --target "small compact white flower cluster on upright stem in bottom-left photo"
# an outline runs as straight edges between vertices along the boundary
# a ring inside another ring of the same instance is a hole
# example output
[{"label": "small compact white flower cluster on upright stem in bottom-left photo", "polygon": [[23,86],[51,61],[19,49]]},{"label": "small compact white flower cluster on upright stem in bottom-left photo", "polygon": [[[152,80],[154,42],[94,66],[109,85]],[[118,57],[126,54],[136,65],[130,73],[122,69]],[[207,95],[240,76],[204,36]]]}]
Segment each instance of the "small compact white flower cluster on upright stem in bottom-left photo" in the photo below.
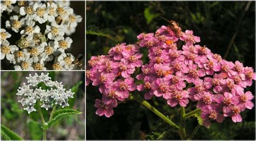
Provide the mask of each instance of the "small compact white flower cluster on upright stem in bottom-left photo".
[{"label": "small compact white flower cluster on upright stem in bottom-left photo", "polygon": [[[60,105],[63,107],[69,106],[68,100],[69,97],[73,98],[71,89],[66,90],[63,88],[62,82],[52,81],[51,77],[48,74],[41,73],[38,75],[29,74],[29,77],[26,77],[28,84],[23,83],[22,87],[19,87],[16,95],[22,96],[22,99],[19,100],[25,108],[24,110],[30,112],[36,111],[34,105],[36,102],[41,103],[41,107],[48,110],[53,107],[53,105]],[[39,83],[43,83],[49,89],[42,89],[38,87]]]}]

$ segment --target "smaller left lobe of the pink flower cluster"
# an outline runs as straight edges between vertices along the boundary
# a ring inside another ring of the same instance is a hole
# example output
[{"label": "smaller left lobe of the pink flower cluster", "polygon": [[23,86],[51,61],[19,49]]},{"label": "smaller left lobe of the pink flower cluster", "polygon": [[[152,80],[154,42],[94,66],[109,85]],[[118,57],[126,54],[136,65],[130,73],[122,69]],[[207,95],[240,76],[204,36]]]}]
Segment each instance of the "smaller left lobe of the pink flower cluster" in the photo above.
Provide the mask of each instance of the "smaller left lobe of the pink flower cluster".
[{"label": "smaller left lobe of the pink flower cluster", "polygon": [[112,47],[109,55],[92,57],[88,61],[91,69],[86,70],[86,85],[99,86],[102,100],[97,99],[96,114],[110,117],[112,108],[117,107],[117,101],[124,101],[130,92],[136,90],[137,85],[131,75],[136,67],[141,67],[143,54],[139,53],[139,46],[118,44]]}]

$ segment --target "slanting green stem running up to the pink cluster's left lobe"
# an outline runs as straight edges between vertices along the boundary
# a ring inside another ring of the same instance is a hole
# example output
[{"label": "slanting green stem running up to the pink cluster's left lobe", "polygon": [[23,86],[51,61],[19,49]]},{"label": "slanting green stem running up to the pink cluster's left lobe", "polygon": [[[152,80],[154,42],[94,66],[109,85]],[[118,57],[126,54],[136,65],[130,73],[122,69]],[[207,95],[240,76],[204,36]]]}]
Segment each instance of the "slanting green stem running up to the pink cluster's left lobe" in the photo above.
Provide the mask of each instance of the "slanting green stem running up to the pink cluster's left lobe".
[{"label": "slanting green stem running up to the pink cluster's left lobe", "polygon": [[173,123],[170,118],[163,115],[160,111],[158,111],[156,108],[154,108],[149,102],[145,101],[142,97],[133,95],[133,96],[130,96],[130,100],[136,100],[136,101],[142,103],[146,108],[150,109],[152,112],[154,112],[154,114],[159,116],[165,122],[169,123],[174,128],[179,129],[179,126],[177,126],[175,123]]}]

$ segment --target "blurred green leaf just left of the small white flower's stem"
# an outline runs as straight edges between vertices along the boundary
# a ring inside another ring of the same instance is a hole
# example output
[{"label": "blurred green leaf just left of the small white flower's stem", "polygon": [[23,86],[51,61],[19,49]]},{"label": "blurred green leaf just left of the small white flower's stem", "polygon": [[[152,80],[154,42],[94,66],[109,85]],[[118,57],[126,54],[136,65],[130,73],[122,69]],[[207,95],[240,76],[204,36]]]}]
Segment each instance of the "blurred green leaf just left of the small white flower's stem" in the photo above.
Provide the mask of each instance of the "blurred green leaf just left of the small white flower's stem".
[{"label": "blurred green leaf just left of the small white flower's stem", "polygon": [[31,139],[40,140],[43,137],[43,130],[41,128],[41,124],[35,122],[33,120],[28,121],[29,126],[29,134]]}]

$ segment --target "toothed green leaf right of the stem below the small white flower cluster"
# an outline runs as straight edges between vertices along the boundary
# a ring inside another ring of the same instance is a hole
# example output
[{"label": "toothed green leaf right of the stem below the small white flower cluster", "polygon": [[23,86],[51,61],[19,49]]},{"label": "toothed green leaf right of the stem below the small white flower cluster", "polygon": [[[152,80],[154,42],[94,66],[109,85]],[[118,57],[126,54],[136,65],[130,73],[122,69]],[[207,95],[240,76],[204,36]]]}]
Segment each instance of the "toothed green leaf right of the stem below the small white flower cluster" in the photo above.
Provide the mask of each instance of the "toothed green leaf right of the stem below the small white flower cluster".
[{"label": "toothed green leaf right of the stem below the small white flower cluster", "polygon": [[54,124],[56,124],[60,119],[71,116],[71,115],[78,115],[82,114],[80,111],[76,111],[73,109],[60,109],[53,112],[51,121],[48,122],[48,126],[44,128],[50,128]]}]

